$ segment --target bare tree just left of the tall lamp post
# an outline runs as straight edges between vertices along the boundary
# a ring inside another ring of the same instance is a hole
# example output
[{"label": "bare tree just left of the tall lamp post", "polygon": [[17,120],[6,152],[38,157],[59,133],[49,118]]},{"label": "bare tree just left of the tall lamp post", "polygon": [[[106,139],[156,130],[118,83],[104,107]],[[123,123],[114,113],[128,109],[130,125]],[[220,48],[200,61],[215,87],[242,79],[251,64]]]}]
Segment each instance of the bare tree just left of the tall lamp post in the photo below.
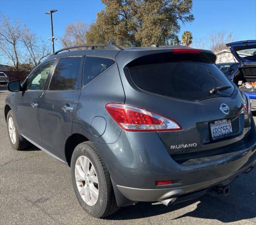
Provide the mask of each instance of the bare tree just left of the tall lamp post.
[{"label": "bare tree just left of the tall lamp post", "polygon": [[22,42],[29,54],[29,63],[36,67],[40,62],[50,55],[50,48],[46,41],[39,39],[30,30],[26,30]]}]

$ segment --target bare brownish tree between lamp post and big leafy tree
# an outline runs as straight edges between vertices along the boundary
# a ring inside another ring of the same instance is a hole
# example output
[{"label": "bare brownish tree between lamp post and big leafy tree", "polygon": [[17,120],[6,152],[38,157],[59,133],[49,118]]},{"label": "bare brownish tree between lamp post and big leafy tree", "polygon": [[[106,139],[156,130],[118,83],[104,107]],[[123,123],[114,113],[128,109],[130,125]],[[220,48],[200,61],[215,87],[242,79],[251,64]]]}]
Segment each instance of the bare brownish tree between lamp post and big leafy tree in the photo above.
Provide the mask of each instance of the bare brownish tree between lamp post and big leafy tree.
[{"label": "bare brownish tree between lamp post and big leafy tree", "polygon": [[72,45],[84,45],[86,43],[87,24],[82,21],[75,21],[66,26],[64,36],[60,38],[64,47]]}]

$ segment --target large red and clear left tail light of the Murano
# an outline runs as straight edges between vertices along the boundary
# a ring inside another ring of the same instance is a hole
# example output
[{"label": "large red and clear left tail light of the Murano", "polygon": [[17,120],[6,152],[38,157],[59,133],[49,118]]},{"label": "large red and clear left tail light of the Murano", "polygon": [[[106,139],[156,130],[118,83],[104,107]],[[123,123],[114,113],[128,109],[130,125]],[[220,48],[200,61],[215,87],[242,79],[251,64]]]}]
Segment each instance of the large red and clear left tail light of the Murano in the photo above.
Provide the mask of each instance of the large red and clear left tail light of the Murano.
[{"label": "large red and clear left tail light of the Murano", "polygon": [[126,131],[174,131],[182,129],[175,120],[139,107],[108,103],[105,108],[112,119]]}]

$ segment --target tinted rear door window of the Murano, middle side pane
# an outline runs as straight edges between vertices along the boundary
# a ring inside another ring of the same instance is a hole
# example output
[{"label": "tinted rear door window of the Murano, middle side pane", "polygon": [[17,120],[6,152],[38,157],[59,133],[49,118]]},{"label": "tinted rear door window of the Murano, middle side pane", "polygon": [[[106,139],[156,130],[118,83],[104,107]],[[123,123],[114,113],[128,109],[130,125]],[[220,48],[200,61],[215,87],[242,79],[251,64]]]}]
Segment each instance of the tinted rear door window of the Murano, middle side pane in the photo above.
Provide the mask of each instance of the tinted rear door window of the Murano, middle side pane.
[{"label": "tinted rear door window of the Murano, middle side pane", "polygon": [[60,59],[48,90],[76,90],[80,88],[82,57]]}]

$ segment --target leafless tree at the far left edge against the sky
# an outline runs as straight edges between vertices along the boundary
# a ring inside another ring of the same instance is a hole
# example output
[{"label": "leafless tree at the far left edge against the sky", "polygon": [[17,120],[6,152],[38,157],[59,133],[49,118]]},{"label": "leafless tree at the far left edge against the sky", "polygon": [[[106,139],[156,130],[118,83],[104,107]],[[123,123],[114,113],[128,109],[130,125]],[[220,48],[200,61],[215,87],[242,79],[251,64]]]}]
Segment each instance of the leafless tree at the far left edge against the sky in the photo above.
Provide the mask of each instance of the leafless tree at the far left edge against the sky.
[{"label": "leafless tree at the far left edge against the sky", "polygon": [[18,45],[20,44],[26,26],[16,20],[13,23],[4,15],[0,15],[0,50],[12,61],[16,70],[19,67]]}]

